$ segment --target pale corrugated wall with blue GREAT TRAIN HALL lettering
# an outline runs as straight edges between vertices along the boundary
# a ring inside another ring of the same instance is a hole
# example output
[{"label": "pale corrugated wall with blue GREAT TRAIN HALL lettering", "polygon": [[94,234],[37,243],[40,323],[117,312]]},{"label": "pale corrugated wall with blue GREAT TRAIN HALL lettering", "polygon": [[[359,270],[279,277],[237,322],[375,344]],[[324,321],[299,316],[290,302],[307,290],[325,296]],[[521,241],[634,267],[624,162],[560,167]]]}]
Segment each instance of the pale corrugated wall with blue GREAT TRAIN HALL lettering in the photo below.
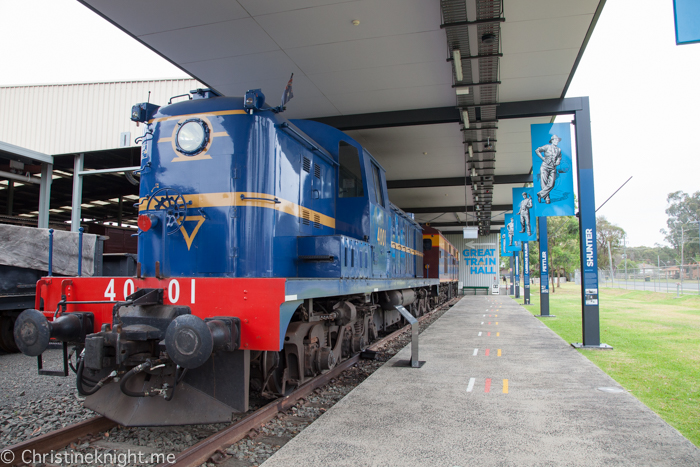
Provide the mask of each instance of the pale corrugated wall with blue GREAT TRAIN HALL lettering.
[{"label": "pale corrugated wall with blue GREAT TRAIN HALL lettering", "polygon": [[465,240],[461,233],[446,234],[445,238],[459,250],[460,287],[490,287],[494,281],[498,282],[501,258],[497,233],[476,240]]}]

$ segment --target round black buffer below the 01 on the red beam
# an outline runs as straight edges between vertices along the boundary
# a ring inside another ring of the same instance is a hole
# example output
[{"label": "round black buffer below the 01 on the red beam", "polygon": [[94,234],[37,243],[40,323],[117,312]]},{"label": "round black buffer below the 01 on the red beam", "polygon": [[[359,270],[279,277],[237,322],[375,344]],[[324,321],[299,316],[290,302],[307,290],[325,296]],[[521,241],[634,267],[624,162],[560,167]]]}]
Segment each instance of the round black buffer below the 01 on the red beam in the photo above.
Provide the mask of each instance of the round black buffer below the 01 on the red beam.
[{"label": "round black buffer below the 01 on the red beam", "polygon": [[193,369],[209,359],[214,350],[214,339],[202,318],[180,315],[165,332],[165,348],[173,362]]}]

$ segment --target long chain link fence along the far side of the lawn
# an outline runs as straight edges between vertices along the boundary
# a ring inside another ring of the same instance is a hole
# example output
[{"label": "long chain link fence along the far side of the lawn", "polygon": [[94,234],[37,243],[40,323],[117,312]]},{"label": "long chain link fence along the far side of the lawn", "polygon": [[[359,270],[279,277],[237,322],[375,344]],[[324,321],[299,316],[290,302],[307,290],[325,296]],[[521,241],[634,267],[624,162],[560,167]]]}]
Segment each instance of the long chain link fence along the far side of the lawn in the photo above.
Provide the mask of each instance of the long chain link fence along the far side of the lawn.
[{"label": "long chain link fence along the far side of the lawn", "polygon": [[[613,273],[614,272],[614,273]],[[700,295],[700,264],[645,267],[638,269],[598,270],[600,287]]]}]

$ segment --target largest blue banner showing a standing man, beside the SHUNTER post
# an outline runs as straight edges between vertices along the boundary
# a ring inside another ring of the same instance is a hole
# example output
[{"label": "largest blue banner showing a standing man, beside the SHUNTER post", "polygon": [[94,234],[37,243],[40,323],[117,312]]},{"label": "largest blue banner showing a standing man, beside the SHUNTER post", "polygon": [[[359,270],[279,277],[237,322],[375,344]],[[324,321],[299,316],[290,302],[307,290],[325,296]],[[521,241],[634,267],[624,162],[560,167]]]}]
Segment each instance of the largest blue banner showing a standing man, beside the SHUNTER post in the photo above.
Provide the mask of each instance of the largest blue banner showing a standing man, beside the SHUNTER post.
[{"label": "largest blue banner showing a standing man, beside the SHUNTER post", "polygon": [[571,124],[530,125],[533,204],[538,217],[574,215]]}]

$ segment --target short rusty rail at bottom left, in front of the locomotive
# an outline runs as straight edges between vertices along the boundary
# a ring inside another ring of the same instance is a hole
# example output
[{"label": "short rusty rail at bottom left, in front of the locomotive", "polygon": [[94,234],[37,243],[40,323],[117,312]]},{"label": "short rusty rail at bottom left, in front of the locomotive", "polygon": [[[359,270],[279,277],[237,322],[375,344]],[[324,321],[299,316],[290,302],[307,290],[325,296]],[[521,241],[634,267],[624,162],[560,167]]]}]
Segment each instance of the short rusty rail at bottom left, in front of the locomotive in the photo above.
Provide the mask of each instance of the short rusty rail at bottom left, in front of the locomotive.
[{"label": "short rusty rail at bottom left, in front of the locomotive", "polygon": [[[37,436],[36,438],[28,439],[21,443],[8,446],[1,449],[0,451],[6,452],[11,451],[13,453],[13,459],[9,463],[0,460],[0,465],[10,466],[23,464],[22,454],[25,452],[30,452],[30,459],[32,454],[45,454],[53,450],[62,449],[68,446],[73,441],[76,441],[84,436],[93,433],[99,433],[102,431],[107,431],[117,426],[116,422],[106,418],[106,417],[94,417],[82,422],[78,422],[75,425],[70,425],[64,428],[60,428],[55,431],[50,431],[43,435]],[[30,460],[31,463],[31,460]]]}]

